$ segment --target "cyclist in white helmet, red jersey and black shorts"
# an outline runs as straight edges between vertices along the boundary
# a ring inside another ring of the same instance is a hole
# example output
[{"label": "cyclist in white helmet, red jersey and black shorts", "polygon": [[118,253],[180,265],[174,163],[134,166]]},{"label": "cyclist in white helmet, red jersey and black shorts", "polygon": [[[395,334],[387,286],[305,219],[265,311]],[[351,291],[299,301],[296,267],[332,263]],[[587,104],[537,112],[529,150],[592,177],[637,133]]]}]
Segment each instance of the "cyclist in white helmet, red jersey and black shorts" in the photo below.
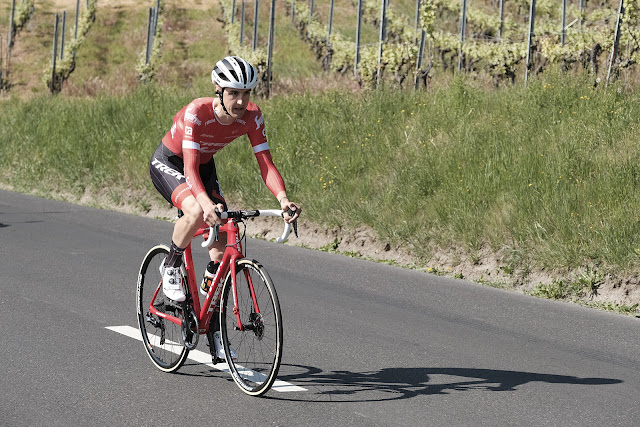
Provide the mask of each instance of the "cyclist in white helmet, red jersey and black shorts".
[{"label": "cyclist in white helmet, red jersey and black shorts", "polygon": [[[227,210],[213,156],[231,141],[248,135],[262,179],[285,211],[285,221],[295,221],[302,212],[300,205],[287,198],[284,181],[271,158],[264,118],[258,106],[249,101],[251,89],[258,84],[254,66],[227,56],[216,63],[211,80],[217,97],[198,98],[182,108],[150,161],[154,186],[184,213],[173,229],[162,280],[165,296],[178,302],[185,300],[180,275],[184,249],[198,228],[222,224],[216,210]],[[209,247],[210,272],[215,272],[222,260],[225,241],[220,238]]]}]

